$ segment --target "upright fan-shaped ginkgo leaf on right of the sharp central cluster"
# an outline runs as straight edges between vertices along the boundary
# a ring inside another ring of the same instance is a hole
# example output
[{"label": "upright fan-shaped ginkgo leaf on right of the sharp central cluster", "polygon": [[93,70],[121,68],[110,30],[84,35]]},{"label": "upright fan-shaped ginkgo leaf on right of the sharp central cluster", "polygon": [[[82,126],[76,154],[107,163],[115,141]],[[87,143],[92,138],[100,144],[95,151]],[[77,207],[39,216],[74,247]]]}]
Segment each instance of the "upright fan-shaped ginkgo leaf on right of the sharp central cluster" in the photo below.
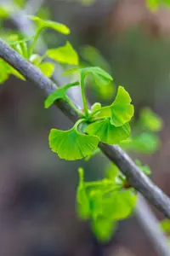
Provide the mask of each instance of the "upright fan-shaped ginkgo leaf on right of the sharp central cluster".
[{"label": "upright fan-shaped ginkgo leaf on right of the sharp central cluster", "polygon": [[111,104],[111,125],[122,126],[133,117],[134,108],[131,97],[122,86],[119,86],[115,101]]}]

